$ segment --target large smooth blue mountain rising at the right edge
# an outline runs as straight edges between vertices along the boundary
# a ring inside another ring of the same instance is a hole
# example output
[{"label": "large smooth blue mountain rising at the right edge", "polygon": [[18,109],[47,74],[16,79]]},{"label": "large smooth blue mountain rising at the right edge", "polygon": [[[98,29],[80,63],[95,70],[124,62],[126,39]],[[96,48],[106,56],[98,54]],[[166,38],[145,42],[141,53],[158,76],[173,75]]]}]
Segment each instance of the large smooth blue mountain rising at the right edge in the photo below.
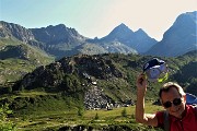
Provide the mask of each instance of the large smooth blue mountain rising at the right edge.
[{"label": "large smooth blue mountain rising at the right edge", "polygon": [[197,49],[197,11],[181,14],[146,55],[176,57]]}]

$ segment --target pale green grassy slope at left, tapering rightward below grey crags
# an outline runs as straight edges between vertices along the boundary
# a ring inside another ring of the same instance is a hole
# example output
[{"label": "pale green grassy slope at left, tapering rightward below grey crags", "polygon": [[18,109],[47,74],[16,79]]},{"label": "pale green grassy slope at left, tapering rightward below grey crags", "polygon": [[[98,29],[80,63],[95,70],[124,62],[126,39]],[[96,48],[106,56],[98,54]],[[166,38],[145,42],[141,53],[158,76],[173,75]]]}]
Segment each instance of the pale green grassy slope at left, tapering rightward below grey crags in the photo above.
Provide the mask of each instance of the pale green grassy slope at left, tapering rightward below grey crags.
[{"label": "pale green grassy slope at left, tapering rightward below grey crags", "polygon": [[0,84],[15,82],[27,72],[33,71],[35,68],[54,61],[53,57],[49,57],[40,49],[34,48],[27,44],[23,44],[14,38],[0,38],[1,52],[7,53],[7,50],[4,50],[7,46],[22,46],[22,51],[27,55],[27,59],[0,59]]}]

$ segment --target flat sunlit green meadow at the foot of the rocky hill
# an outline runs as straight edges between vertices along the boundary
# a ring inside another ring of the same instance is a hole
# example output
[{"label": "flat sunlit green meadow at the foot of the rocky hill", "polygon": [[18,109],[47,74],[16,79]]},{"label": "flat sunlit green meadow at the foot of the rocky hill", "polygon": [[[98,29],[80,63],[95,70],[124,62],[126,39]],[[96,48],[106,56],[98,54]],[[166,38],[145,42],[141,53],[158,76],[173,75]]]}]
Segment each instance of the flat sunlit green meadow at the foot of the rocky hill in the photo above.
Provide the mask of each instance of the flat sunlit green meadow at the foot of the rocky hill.
[{"label": "flat sunlit green meadow at the foot of the rocky hill", "polygon": [[[152,106],[150,103],[146,105],[147,112],[154,112],[161,110],[160,106]],[[126,117],[123,117],[121,112],[126,110]],[[95,116],[99,116],[95,119]],[[54,111],[51,114],[44,114],[34,118],[18,119],[18,129],[23,130],[45,130],[58,129],[63,126],[77,126],[83,124],[94,128],[101,128],[104,126],[128,126],[130,129],[154,130],[150,127],[138,124],[135,121],[135,106],[116,108],[113,110],[86,110],[82,116],[78,116],[77,110],[70,111]],[[158,130],[158,129],[155,129]]]}]

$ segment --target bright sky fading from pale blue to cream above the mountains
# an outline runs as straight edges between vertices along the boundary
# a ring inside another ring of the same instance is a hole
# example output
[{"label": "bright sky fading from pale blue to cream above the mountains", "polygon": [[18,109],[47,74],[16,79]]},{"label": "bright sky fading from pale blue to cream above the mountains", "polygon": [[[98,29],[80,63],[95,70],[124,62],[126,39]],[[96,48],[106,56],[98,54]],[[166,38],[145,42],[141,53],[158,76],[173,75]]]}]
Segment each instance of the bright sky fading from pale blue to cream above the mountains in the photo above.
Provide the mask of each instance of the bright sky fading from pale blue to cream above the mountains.
[{"label": "bright sky fading from pale blue to cream above the mountains", "polygon": [[90,38],[124,23],[161,40],[179,14],[193,11],[197,0],[0,0],[0,21],[26,28],[65,24]]}]

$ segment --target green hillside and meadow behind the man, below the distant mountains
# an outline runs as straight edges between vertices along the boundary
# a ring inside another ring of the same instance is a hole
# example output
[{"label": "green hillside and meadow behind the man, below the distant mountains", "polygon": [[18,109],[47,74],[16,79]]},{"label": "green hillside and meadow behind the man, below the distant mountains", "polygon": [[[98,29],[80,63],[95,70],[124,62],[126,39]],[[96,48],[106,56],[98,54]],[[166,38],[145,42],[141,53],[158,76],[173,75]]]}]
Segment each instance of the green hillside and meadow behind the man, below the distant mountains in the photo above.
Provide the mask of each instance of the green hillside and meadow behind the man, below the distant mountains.
[{"label": "green hillside and meadow behind the man, below the distant mountains", "polygon": [[[178,58],[161,59],[169,64],[169,81],[178,82],[186,92],[196,94],[197,59],[194,56],[194,52],[189,52]],[[1,60],[1,71],[9,69],[10,72],[28,72],[15,73],[13,76],[1,72],[0,76],[10,83],[0,85],[0,103],[8,104],[12,110],[12,114],[4,118],[10,121],[13,130],[16,128],[22,131],[78,128],[158,131],[159,129],[135,121],[136,76],[141,72],[143,63],[151,58],[119,53],[73,56],[38,68],[31,67],[31,63],[22,59]],[[24,66],[19,64],[21,62],[25,62]],[[147,112],[162,109],[161,106],[152,105],[158,100],[161,84],[149,83],[146,96]],[[96,93],[101,93],[108,103],[120,106],[108,110],[86,109],[85,93],[92,88],[97,88],[100,92]]]}]

